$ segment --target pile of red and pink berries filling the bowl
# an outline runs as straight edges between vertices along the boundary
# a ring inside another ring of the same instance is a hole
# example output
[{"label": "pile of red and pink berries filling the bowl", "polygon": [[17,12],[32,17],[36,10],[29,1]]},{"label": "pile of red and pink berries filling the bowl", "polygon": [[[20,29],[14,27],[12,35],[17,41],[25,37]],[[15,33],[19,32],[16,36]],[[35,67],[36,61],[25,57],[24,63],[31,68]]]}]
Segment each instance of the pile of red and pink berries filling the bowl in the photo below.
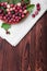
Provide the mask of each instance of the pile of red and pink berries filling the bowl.
[{"label": "pile of red and pink berries filling the bowl", "polygon": [[9,4],[8,2],[0,3],[0,20],[9,24],[19,23],[27,14],[26,4]]}]

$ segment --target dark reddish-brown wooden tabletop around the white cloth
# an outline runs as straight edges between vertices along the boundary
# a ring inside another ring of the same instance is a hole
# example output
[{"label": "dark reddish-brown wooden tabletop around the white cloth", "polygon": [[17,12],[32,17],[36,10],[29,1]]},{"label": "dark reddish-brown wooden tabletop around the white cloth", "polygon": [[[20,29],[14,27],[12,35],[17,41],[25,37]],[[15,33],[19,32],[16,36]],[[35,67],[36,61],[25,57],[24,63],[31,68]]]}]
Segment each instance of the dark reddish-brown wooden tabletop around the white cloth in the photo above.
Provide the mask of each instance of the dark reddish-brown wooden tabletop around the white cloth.
[{"label": "dark reddish-brown wooden tabletop around the white cloth", "polygon": [[0,71],[47,71],[47,12],[16,47],[0,38]]}]

